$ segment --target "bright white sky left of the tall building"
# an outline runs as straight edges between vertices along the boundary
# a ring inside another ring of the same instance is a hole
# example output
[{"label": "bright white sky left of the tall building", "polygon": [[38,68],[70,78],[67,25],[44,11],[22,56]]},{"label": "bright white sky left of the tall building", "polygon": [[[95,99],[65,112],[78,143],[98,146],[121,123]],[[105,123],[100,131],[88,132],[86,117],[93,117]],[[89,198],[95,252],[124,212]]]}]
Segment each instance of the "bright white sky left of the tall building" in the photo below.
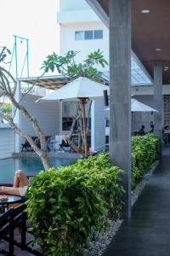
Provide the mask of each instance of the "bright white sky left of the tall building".
[{"label": "bright white sky left of the tall building", "polygon": [[[55,52],[59,54],[59,0],[0,0],[0,46],[14,47],[14,35],[29,39],[30,76],[42,74],[42,61]],[[26,55],[26,40],[17,38],[18,73]],[[15,59],[14,59],[15,60]],[[15,75],[14,61],[11,73]],[[26,69],[22,77],[26,77]]]}]

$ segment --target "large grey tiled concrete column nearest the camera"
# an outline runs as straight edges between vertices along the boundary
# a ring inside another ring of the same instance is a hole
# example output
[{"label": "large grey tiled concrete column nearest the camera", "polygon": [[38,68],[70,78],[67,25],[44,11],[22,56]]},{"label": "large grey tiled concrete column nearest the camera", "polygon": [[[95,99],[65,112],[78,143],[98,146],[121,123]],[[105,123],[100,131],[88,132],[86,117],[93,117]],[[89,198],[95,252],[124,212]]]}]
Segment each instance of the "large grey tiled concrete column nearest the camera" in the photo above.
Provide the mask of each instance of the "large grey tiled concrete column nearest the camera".
[{"label": "large grey tiled concrete column nearest the camera", "polygon": [[131,217],[131,0],[109,0],[110,154],[122,175],[123,218]]}]

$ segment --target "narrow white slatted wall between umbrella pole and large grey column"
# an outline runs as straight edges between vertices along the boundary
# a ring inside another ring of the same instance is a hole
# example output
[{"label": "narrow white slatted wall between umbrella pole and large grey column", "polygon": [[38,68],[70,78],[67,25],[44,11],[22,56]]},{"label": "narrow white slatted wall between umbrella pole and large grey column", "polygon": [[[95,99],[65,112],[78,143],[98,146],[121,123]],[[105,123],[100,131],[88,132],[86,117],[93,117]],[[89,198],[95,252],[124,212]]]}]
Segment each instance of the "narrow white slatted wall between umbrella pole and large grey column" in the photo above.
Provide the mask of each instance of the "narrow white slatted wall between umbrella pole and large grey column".
[{"label": "narrow white slatted wall between umbrella pole and large grey column", "polygon": [[104,100],[95,100],[91,110],[91,148],[105,149],[105,105]]}]

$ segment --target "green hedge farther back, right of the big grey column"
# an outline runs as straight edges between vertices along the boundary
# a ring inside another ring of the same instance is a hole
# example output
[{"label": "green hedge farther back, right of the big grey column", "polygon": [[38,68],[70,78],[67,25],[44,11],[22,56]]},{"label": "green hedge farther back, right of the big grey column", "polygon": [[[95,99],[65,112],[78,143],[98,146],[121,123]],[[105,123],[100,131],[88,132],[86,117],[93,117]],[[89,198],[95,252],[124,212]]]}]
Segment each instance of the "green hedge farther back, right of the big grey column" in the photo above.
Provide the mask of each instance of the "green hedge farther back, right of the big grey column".
[{"label": "green hedge farther back, right of the big grey column", "polygon": [[132,189],[142,180],[156,160],[158,138],[149,133],[132,138]]}]

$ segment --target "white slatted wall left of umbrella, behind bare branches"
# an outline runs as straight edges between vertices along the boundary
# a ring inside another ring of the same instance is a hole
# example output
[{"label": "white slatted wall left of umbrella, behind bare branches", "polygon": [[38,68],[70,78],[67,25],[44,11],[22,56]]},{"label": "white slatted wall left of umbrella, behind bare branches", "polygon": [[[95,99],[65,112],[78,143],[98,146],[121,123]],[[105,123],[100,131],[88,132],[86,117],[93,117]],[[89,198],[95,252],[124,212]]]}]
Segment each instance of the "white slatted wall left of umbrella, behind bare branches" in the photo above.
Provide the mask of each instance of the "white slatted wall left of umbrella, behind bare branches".
[{"label": "white slatted wall left of umbrella, behind bare branches", "polygon": [[[22,104],[29,113],[37,118],[40,128],[46,136],[54,138],[59,134],[59,108],[60,102],[37,102],[38,96],[25,96]],[[20,129],[28,132],[31,136],[35,136],[35,132],[29,121],[20,113]],[[23,141],[23,139],[22,139]],[[25,139],[24,139],[25,141]]]}]

